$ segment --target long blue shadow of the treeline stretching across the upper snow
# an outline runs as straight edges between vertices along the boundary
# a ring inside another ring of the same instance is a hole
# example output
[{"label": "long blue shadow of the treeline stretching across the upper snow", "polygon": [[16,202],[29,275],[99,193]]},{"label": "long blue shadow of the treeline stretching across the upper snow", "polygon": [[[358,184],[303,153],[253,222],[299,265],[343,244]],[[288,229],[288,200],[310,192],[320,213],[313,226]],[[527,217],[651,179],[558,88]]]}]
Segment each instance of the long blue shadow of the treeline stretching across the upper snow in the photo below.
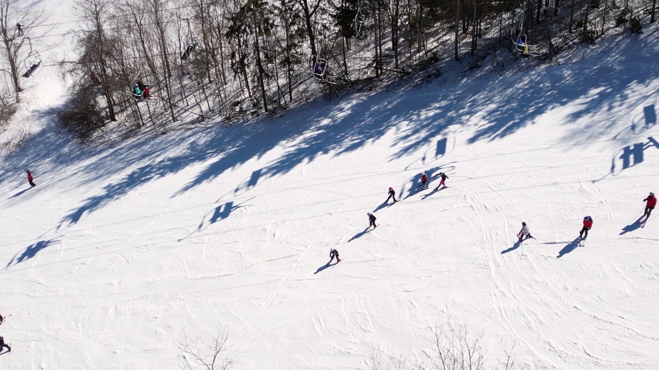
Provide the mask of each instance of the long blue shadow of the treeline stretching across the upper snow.
[{"label": "long blue shadow of the treeline stretching across the upper snow", "polygon": [[[253,173],[244,188],[270,176],[286,174],[320,155],[353,152],[380,140],[394,128],[391,157],[396,159],[433,145],[451,126],[477,121],[476,131],[466,145],[493,141],[538,122],[552,109],[584,101],[571,109],[565,120],[565,124],[570,124],[594,111],[617,109],[629,99],[625,92],[631,86],[645,86],[659,74],[659,63],[645,63],[642,72],[639,68],[629,68],[629,63],[638,58],[637,51],[651,49],[658,30],[648,30],[635,43],[613,40],[608,49],[619,53],[585,51],[592,54],[587,61],[569,68],[545,68],[534,74],[534,78],[529,78],[527,73],[508,73],[501,78],[491,74],[486,79],[464,80],[461,74],[460,83],[455,79],[442,86],[433,82],[436,86],[427,89],[427,93],[351,95],[335,99],[332,104],[312,103],[279,118],[264,117],[230,127],[217,125],[216,121],[195,128],[170,124],[166,135],[156,135],[145,128],[138,135],[115,143],[101,143],[109,145],[80,145],[70,134],[51,124],[21,149],[2,159],[0,184],[13,179],[12,174],[24,168],[40,167],[45,170],[40,171],[42,176],[49,172],[61,174],[57,178],[57,186],[61,187],[78,188],[91,181],[105,183],[98,194],[71,209],[63,217],[62,226],[77,223],[85,213],[192,165],[205,164],[172,197],[211,182],[251,159],[262,158],[275,148],[282,148],[277,152],[283,154],[264,166],[259,165],[262,170]],[[482,71],[490,72],[488,68]],[[63,109],[65,105],[35,111],[33,117],[50,121],[53,111]],[[570,129],[566,140],[590,142],[608,135],[614,128],[611,120],[589,120]],[[76,171],[65,171],[78,163]],[[415,181],[409,195],[416,193],[418,178]]]}]

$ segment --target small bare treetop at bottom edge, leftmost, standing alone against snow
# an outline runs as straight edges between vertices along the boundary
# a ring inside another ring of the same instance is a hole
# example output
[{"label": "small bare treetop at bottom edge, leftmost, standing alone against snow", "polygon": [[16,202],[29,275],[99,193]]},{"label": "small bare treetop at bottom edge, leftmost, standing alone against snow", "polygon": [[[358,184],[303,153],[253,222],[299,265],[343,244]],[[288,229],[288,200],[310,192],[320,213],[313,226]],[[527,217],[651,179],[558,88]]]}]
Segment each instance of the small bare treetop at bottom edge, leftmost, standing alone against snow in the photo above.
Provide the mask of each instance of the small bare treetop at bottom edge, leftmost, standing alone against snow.
[{"label": "small bare treetop at bottom edge, leftmost, standing alone against snow", "polygon": [[[193,364],[190,361],[186,363],[187,368],[190,370],[206,369],[206,370],[227,370],[233,365],[230,359],[221,359],[220,355],[223,354],[227,346],[227,338],[229,335],[226,333],[217,334],[212,344],[202,343],[202,348],[199,348],[197,341],[189,342],[186,339],[185,343],[179,343],[179,348],[184,354],[190,356]],[[185,359],[188,359],[185,355]],[[188,359],[188,360],[190,360]]]}]

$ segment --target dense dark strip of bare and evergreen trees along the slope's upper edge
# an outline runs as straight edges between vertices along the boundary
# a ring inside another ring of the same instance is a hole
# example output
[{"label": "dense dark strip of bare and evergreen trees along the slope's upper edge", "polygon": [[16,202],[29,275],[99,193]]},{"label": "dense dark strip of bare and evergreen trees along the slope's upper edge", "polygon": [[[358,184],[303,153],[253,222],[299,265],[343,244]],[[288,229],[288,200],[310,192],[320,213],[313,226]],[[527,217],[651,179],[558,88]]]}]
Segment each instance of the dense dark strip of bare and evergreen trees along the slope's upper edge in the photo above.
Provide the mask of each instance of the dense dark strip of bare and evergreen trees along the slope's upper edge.
[{"label": "dense dark strip of bare and evergreen trees along the slope's upper edge", "polygon": [[[614,26],[640,33],[655,2],[84,0],[61,118],[88,137],[117,120],[140,128],[277,112],[440,61],[492,51],[546,59]],[[134,97],[138,81],[152,99]]]}]

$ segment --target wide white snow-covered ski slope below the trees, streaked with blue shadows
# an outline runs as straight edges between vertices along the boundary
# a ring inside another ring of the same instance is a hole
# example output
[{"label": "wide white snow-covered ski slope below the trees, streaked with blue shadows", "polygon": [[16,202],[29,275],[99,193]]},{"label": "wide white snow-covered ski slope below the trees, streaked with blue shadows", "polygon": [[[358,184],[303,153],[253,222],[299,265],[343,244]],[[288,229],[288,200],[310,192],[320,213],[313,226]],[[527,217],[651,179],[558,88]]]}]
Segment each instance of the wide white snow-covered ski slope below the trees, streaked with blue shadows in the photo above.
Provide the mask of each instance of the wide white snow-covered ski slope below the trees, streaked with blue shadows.
[{"label": "wide white snow-covered ski slope below the trees, streaked with blue shadows", "polygon": [[179,369],[219,332],[236,369],[428,363],[450,319],[490,365],[517,342],[522,369],[658,369],[659,221],[635,223],[659,190],[657,36],[98,149],[44,130],[0,167],[0,368]]}]

